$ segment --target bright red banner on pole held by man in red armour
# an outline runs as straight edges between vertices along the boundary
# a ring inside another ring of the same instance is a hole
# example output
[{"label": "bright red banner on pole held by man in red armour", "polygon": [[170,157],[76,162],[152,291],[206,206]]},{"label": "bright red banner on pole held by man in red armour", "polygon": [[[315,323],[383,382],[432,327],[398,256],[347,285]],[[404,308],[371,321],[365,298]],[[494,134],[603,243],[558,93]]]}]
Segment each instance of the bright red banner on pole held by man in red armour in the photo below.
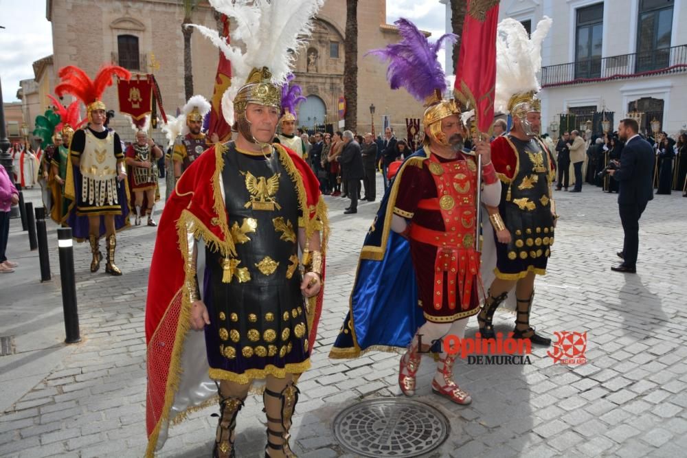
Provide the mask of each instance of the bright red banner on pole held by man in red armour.
[{"label": "bright red banner on pole held by man in red armour", "polygon": [[473,125],[489,135],[494,119],[498,20],[499,0],[467,0],[453,87],[455,96],[475,110]]}]

